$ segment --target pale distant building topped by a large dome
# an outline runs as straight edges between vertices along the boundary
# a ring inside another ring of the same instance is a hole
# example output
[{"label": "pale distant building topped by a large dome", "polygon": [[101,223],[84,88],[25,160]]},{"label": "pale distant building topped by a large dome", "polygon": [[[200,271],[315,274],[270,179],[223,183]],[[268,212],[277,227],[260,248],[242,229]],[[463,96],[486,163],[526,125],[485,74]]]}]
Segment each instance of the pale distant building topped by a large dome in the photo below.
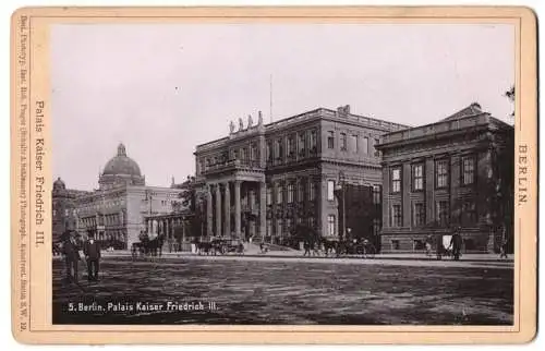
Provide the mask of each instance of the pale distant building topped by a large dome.
[{"label": "pale distant building topped by a large dome", "polygon": [[[102,246],[123,250],[137,242],[142,231],[147,231],[145,217],[170,214],[180,193],[173,187],[146,185],[138,165],[126,156],[123,144],[106,164],[98,184],[99,189],[93,192],[71,191],[74,195],[63,197],[56,195],[53,185],[53,202],[57,198],[57,203],[63,204],[63,213],[72,214],[65,219],[70,228],[74,227],[83,237],[94,237]],[[58,184],[58,189],[62,186]],[[57,193],[62,194],[59,190]],[[61,210],[60,205],[57,209]],[[62,229],[53,220],[53,232],[56,226],[57,231]]]}]

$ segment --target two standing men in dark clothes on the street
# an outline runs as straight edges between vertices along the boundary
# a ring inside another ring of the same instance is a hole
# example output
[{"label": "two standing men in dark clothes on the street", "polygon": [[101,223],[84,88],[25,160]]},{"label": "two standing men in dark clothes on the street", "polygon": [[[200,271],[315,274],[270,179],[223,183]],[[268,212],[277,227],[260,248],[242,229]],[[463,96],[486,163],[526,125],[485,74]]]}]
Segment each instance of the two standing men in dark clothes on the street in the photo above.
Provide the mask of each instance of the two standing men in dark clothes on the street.
[{"label": "two standing men in dark clothes on the street", "polygon": [[[62,253],[64,255],[66,268],[66,281],[78,281],[77,266],[82,256],[80,254],[80,243],[76,240],[75,232],[71,232],[62,243]],[[83,254],[87,264],[87,280],[97,281],[100,263],[100,245],[93,237],[89,237],[83,243]]]}]

